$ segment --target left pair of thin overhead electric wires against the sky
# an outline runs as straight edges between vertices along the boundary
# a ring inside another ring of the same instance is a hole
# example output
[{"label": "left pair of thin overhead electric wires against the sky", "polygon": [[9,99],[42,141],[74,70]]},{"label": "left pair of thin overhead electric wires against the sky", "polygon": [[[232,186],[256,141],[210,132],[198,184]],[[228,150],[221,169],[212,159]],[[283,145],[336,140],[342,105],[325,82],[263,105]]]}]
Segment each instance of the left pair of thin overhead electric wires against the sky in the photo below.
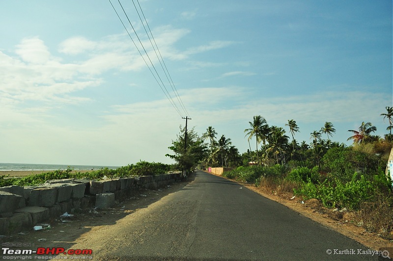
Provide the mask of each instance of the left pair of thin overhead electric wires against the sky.
[{"label": "left pair of thin overhead electric wires against the sky", "polygon": [[[182,117],[182,114],[181,114],[181,112],[180,112],[180,110],[179,110],[177,104],[173,101],[173,98],[170,96],[170,94],[169,94],[169,92],[168,92],[168,89],[165,87],[165,84],[164,84],[163,80],[161,79],[160,75],[158,74],[158,72],[157,72],[157,70],[156,70],[156,68],[155,68],[155,66],[154,66],[154,64],[153,64],[153,62],[151,61],[151,59],[150,59],[150,57],[149,57],[149,55],[148,55],[146,49],[144,48],[144,46],[143,46],[143,44],[142,44],[142,42],[141,42],[141,40],[140,40],[140,38],[139,38],[139,36],[138,36],[136,30],[135,30],[134,26],[132,25],[130,19],[128,18],[128,15],[127,15],[127,13],[125,12],[125,10],[124,10],[124,8],[123,8],[123,5],[121,4],[120,0],[118,0],[118,2],[119,2],[119,4],[120,4],[120,7],[121,7],[121,9],[123,10],[123,13],[124,13],[124,15],[126,16],[128,22],[130,23],[132,29],[134,30],[134,33],[135,33],[135,35],[137,36],[137,38],[138,38],[138,40],[139,40],[139,42],[140,42],[140,45],[141,45],[141,47],[143,48],[143,50],[144,50],[144,52],[145,52],[147,58],[149,59],[150,64],[151,64],[151,66],[153,67],[153,69],[154,69],[154,71],[155,71],[155,73],[156,73],[158,79],[157,79],[156,75],[153,73],[152,69],[150,68],[150,66],[149,66],[148,62],[146,61],[146,59],[144,58],[143,54],[140,52],[140,49],[138,48],[137,44],[135,43],[134,39],[132,38],[132,36],[131,36],[130,32],[128,31],[127,27],[124,25],[122,19],[120,18],[120,15],[119,15],[118,12],[116,11],[115,7],[113,6],[112,1],[111,1],[111,0],[109,0],[109,1],[110,1],[111,5],[112,5],[112,8],[113,8],[113,10],[115,11],[117,17],[119,18],[121,24],[122,24],[123,27],[126,29],[128,35],[129,35],[129,37],[131,38],[132,42],[134,43],[135,47],[137,48],[137,50],[138,50],[140,56],[142,57],[142,59],[143,59],[143,61],[145,62],[146,66],[149,68],[150,73],[153,75],[153,77],[154,77],[155,80],[157,81],[158,85],[160,86],[161,90],[164,92],[164,94],[165,94],[165,96],[167,97],[167,99],[168,99],[168,101],[170,102],[170,104],[172,104],[172,106],[174,107],[174,109],[176,110],[176,112]],[[160,82],[161,82],[161,83],[160,83]],[[164,87],[164,88],[163,88],[163,87]],[[165,89],[165,90],[164,90],[164,89]]]}]

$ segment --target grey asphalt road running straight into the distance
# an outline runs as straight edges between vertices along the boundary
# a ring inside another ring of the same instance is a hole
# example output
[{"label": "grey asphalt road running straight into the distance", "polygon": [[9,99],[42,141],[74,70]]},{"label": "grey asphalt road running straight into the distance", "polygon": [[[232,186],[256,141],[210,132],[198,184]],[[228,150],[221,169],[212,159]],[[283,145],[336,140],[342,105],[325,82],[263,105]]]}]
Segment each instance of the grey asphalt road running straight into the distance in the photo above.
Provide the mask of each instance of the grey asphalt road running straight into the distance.
[{"label": "grey asphalt road running straight into the distance", "polygon": [[[202,171],[193,182],[103,231],[94,258],[108,260],[377,260],[367,250],[237,183]],[[73,248],[78,248],[78,244]],[[333,254],[328,255],[327,251]],[[337,252],[339,253],[339,252]]]}]

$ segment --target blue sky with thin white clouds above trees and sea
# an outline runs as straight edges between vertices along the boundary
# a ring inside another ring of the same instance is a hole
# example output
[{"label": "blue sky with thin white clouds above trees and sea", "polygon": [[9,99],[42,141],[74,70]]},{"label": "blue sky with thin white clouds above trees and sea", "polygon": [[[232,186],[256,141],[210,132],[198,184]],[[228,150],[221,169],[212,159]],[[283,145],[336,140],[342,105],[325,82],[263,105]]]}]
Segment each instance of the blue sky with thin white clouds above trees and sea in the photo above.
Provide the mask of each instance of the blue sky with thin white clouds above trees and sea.
[{"label": "blue sky with thin white clouds above trees and sea", "polygon": [[299,142],[325,122],[347,145],[363,121],[388,133],[391,0],[134,0],[173,85],[120,3],[128,19],[118,0],[0,1],[0,162],[173,163],[186,116],[240,153],[255,115]]}]

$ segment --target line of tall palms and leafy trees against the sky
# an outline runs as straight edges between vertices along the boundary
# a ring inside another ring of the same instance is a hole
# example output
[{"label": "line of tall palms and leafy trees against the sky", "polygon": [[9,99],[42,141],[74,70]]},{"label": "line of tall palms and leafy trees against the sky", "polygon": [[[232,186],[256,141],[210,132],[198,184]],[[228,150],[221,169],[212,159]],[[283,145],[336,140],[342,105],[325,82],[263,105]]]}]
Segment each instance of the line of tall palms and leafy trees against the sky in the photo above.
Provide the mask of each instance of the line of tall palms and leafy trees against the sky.
[{"label": "line of tall palms and leafy trees against the sky", "polygon": [[[362,122],[358,130],[348,130],[351,136],[347,140],[353,141],[353,146],[350,147],[373,151],[381,157],[390,152],[393,142],[393,107],[387,106],[386,112],[380,116],[383,116],[384,121],[388,120],[389,133],[384,137],[374,135],[376,127],[370,122]],[[260,115],[253,116],[249,128],[244,130],[249,149],[242,154],[232,145],[230,138],[224,134],[219,136],[212,126],[202,135],[198,135],[194,129],[188,130],[187,147],[184,150],[185,128],[180,127],[177,139],[173,140],[172,146],[169,147],[173,154],[166,156],[174,159],[183,170],[192,170],[197,165],[201,168],[272,166],[286,164],[289,161],[299,162],[299,165],[306,167],[320,168],[321,159],[329,149],[347,147],[344,143],[332,141],[336,132],[332,122],[325,122],[320,130],[310,132],[309,143],[304,140],[299,143],[296,140],[296,133],[300,130],[294,119],[288,120],[285,126],[289,128],[289,133],[282,127],[269,126],[266,119]]]}]

